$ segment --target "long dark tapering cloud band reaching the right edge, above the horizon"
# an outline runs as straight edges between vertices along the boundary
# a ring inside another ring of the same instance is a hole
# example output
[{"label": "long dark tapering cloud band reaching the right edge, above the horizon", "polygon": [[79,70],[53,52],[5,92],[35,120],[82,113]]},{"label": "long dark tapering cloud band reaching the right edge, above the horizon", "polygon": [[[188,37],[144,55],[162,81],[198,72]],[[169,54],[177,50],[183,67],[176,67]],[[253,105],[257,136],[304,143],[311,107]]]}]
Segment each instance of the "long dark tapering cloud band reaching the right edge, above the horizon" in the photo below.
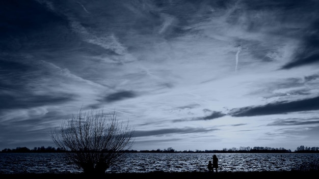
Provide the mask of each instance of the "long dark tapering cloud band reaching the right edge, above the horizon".
[{"label": "long dark tapering cloud band reaching the right edge, above the horizon", "polygon": [[230,115],[235,117],[284,114],[287,112],[319,110],[319,97],[299,101],[283,101],[270,103],[263,106],[249,106],[230,110]]}]

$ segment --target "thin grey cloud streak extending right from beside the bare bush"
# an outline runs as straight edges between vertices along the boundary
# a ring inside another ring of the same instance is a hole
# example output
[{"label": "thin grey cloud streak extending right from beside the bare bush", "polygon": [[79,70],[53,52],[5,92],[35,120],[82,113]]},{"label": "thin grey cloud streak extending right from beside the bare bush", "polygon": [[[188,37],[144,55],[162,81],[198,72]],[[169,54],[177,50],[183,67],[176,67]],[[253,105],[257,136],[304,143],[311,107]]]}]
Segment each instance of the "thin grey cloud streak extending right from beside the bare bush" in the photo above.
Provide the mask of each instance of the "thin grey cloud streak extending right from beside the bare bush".
[{"label": "thin grey cloud streak extending right from beside the bare bush", "polygon": [[135,131],[134,137],[144,137],[152,135],[164,135],[164,134],[188,134],[188,133],[202,133],[215,131],[218,129],[206,129],[206,128],[168,128],[168,129],[159,129],[159,130],[149,130],[149,131]]}]

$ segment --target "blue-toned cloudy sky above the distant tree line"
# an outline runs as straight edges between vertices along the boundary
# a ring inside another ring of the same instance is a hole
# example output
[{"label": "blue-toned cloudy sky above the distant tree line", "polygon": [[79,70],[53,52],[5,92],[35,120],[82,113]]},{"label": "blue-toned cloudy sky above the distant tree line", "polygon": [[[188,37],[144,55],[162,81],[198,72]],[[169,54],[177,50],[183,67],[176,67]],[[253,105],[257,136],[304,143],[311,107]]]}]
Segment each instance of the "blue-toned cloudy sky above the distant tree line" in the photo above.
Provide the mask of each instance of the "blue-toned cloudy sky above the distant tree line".
[{"label": "blue-toned cloudy sky above the distant tree line", "polygon": [[0,2],[0,150],[79,109],[132,150],[319,146],[319,1]]}]

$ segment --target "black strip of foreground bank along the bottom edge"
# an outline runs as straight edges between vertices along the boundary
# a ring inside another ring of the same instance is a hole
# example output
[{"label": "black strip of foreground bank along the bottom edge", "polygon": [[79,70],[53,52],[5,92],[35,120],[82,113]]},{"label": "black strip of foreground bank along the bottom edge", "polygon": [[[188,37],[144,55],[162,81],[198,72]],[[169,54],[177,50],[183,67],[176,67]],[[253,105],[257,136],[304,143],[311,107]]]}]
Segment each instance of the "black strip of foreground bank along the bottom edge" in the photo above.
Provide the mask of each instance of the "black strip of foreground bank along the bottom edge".
[{"label": "black strip of foreground bank along the bottom edge", "polygon": [[319,171],[256,171],[256,172],[149,172],[149,173],[107,173],[104,175],[86,175],[83,173],[19,173],[19,174],[0,174],[2,179],[13,179],[13,178],[108,178],[108,179],[119,179],[119,178],[312,178],[318,176]]}]

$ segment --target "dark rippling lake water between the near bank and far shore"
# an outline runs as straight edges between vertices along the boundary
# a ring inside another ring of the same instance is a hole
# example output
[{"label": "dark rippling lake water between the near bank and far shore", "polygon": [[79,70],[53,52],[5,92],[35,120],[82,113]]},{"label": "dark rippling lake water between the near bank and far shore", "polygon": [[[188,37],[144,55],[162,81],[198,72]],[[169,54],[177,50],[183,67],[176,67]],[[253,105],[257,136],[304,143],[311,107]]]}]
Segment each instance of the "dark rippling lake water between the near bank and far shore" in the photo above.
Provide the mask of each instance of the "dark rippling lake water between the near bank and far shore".
[{"label": "dark rippling lake water between the near bank and far shore", "polygon": [[[213,154],[128,153],[107,172],[207,171]],[[319,154],[216,154],[219,171],[290,171],[318,167]],[[316,168],[318,169],[318,168]],[[79,173],[81,168],[59,153],[0,154],[0,173]]]}]

